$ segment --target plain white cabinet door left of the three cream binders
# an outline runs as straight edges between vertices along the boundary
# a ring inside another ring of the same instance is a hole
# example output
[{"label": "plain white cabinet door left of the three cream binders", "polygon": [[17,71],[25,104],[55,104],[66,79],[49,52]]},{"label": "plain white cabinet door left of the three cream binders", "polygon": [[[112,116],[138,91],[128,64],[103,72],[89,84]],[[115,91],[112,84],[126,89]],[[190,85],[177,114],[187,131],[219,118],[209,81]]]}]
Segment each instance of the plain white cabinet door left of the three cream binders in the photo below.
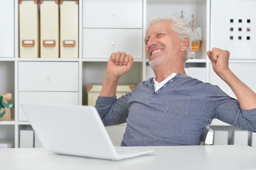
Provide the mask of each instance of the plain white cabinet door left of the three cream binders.
[{"label": "plain white cabinet door left of the three cream binders", "polygon": [[14,1],[0,1],[0,57],[14,57]]}]

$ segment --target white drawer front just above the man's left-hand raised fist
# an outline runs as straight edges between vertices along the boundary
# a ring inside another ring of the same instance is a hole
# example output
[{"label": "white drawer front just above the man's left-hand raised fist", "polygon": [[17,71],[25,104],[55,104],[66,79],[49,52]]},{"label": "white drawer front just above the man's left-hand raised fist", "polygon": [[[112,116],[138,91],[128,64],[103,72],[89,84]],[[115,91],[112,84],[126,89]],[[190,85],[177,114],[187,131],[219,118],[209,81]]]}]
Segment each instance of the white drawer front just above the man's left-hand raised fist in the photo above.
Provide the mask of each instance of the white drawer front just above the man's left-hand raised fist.
[{"label": "white drawer front just above the man's left-hand raised fist", "polygon": [[109,58],[113,52],[125,51],[142,58],[142,40],[142,29],[83,29],[83,57]]}]

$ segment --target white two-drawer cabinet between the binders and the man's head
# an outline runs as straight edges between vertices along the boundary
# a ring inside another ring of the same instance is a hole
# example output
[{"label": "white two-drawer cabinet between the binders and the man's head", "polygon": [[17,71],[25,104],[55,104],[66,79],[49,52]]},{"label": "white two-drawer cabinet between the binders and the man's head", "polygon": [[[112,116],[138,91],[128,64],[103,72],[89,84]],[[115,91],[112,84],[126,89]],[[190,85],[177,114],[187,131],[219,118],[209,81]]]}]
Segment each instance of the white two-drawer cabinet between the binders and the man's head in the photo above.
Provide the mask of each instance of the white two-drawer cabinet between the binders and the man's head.
[{"label": "white two-drawer cabinet between the binders and the man's head", "polygon": [[83,0],[84,58],[125,51],[142,59],[143,43],[143,0]]}]

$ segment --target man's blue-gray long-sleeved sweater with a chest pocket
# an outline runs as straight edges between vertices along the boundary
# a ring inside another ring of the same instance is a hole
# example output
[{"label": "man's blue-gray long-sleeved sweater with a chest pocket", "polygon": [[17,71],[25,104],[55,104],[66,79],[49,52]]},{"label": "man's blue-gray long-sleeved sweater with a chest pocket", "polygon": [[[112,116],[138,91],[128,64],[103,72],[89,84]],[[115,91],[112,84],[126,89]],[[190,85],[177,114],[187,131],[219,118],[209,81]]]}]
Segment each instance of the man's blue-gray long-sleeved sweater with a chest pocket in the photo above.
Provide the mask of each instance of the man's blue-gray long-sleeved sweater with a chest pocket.
[{"label": "man's blue-gray long-sleeved sweater with a chest pocket", "polygon": [[95,107],[105,126],[127,122],[121,146],[198,145],[215,118],[256,132],[256,108],[243,110],[218,86],[181,74],[157,92],[150,78],[118,99],[98,97]]}]

